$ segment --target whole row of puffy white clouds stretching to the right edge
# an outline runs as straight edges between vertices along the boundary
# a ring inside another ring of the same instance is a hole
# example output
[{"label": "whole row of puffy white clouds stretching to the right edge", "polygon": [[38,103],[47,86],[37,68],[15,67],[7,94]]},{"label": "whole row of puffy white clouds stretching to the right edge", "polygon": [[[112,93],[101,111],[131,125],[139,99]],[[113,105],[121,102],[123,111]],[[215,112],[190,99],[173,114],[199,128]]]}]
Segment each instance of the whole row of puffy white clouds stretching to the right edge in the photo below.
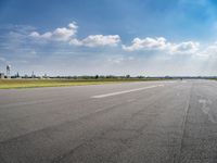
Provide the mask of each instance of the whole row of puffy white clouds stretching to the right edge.
[{"label": "whole row of puffy white clouds stretching to the right edge", "polygon": [[39,32],[31,32],[29,37],[37,40],[47,41],[63,41],[71,46],[77,47],[122,47],[122,50],[126,52],[137,52],[137,51],[158,51],[168,53],[170,55],[176,54],[190,54],[197,57],[214,57],[217,54],[217,42],[201,48],[197,41],[182,41],[182,42],[171,42],[165,37],[136,37],[132,39],[131,45],[122,43],[122,38],[119,35],[89,35],[86,38],[79,39],[76,34],[78,32],[78,25],[76,22],[72,22],[67,27],[58,27],[53,32],[47,32],[40,34]]}]

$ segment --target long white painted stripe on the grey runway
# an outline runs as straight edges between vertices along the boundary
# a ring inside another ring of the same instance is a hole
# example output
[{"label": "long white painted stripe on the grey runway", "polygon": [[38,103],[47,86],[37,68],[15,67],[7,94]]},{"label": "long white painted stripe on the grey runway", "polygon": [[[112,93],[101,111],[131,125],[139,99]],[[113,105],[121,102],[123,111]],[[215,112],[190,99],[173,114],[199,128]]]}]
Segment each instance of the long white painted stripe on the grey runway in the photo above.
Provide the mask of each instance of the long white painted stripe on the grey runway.
[{"label": "long white painted stripe on the grey runway", "polygon": [[117,95],[122,95],[122,93],[128,93],[128,92],[133,92],[133,91],[139,91],[139,90],[155,88],[155,87],[164,87],[164,85],[155,85],[155,86],[137,88],[137,89],[129,89],[129,90],[124,90],[124,91],[116,91],[116,92],[111,92],[111,93],[104,93],[104,95],[93,96],[91,98],[93,98],[93,99],[106,98],[106,97],[112,97],[112,96],[117,96]]}]

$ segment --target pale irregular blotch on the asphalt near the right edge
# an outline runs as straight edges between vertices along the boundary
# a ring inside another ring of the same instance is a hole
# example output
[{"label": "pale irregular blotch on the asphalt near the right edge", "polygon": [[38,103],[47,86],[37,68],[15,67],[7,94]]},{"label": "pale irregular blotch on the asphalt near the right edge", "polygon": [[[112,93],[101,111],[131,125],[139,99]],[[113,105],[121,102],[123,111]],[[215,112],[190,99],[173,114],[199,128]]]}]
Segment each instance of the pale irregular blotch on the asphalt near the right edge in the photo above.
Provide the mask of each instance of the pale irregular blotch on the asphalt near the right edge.
[{"label": "pale irregular blotch on the asphalt near the right edge", "polygon": [[210,100],[206,100],[206,99],[200,99],[199,103],[202,104],[201,110],[208,115],[208,120],[213,123],[216,123],[215,117],[213,116],[212,112],[210,112],[210,108],[209,105],[212,104]]}]

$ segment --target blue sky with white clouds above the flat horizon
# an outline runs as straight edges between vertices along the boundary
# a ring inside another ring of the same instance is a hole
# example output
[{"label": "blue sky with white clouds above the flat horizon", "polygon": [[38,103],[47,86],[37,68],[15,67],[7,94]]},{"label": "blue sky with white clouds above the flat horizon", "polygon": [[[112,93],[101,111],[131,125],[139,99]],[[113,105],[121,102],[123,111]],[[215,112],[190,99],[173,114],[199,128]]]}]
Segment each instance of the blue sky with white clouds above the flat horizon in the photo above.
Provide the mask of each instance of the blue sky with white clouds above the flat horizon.
[{"label": "blue sky with white clouds above the flat horizon", "polygon": [[1,0],[0,72],[216,76],[216,0]]}]

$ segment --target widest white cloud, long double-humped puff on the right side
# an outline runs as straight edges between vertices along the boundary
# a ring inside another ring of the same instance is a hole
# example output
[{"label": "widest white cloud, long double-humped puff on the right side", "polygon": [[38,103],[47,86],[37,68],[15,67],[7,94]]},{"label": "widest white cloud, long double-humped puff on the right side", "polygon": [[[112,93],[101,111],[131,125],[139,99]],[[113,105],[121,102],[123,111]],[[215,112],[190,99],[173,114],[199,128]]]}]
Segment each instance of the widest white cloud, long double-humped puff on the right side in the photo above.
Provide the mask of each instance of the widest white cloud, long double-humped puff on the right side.
[{"label": "widest white cloud, long double-humped puff on the right side", "polygon": [[186,54],[194,53],[199,50],[200,43],[194,41],[187,41],[180,43],[168,42],[164,37],[151,38],[146,37],[144,39],[135,38],[131,46],[123,45],[123,49],[126,51],[146,51],[146,50],[158,50],[165,51],[170,54]]}]

